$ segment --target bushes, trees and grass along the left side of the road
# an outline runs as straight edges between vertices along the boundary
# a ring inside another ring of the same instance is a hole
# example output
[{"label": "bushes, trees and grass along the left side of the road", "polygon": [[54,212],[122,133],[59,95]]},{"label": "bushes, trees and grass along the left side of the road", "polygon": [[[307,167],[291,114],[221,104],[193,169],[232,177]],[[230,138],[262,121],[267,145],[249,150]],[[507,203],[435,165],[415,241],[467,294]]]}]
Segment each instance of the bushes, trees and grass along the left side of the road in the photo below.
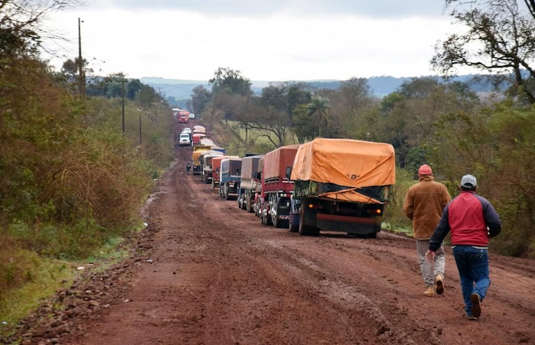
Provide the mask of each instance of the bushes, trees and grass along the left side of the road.
[{"label": "bushes, trees and grass along the left side of the road", "polygon": [[40,60],[40,16],[65,2],[42,5],[0,7],[0,342],[79,267],[126,255],[173,158],[172,117],[153,88],[94,77],[84,60],[81,92],[77,58],[61,71]]}]

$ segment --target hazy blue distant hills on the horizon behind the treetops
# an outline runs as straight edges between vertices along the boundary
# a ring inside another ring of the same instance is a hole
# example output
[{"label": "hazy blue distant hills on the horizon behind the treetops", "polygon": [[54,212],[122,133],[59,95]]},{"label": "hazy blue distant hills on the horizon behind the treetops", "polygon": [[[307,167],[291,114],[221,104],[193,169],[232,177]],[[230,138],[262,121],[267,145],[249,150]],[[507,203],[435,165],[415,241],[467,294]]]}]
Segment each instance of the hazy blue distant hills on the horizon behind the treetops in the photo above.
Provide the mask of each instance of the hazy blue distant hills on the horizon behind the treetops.
[{"label": "hazy blue distant hills on the horizon behind the treetops", "polygon": [[[472,79],[475,76],[472,74],[454,77],[455,81],[463,81],[470,84],[472,90],[477,92],[481,91],[490,91],[490,85],[482,85],[482,83],[473,83]],[[372,95],[375,97],[382,98],[390,93],[393,93],[397,88],[399,88],[402,83],[406,81],[411,81],[412,77],[403,77],[395,78],[389,76],[382,77],[371,77],[368,78],[368,85]],[[182,79],[165,79],[160,77],[143,77],[140,78],[140,81],[148,86],[153,87],[156,91],[161,93],[161,95],[167,99],[170,105],[186,107],[186,103],[191,99],[193,89],[197,86],[204,86],[204,88],[211,90],[211,85],[208,81],[200,80],[182,80]],[[340,87],[339,80],[313,80],[313,81],[304,81],[305,83],[310,84],[313,88],[330,88],[338,89]],[[270,81],[251,81],[252,90],[256,95],[259,95],[263,88],[270,85]],[[274,81],[277,83],[277,81]]]}]

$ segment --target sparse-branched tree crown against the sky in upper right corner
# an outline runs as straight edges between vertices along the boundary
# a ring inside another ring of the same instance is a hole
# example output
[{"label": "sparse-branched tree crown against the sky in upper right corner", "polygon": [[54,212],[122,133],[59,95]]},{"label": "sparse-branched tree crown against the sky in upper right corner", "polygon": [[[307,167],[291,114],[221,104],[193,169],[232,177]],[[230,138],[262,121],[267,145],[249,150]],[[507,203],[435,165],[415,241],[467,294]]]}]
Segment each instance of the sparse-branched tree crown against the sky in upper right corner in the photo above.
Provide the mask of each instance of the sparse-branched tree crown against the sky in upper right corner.
[{"label": "sparse-branched tree crown against the sky in upper right corner", "polygon": [[534,1],[525,1],[531,15],[519,8],[517,0],[445,3],[453,6],[450,15],[468,31],[438,42],[431,65],[445,73],[468,66],[510,78],[514,91],[534,104],[535,70],[530,65],[535,58]]}]

